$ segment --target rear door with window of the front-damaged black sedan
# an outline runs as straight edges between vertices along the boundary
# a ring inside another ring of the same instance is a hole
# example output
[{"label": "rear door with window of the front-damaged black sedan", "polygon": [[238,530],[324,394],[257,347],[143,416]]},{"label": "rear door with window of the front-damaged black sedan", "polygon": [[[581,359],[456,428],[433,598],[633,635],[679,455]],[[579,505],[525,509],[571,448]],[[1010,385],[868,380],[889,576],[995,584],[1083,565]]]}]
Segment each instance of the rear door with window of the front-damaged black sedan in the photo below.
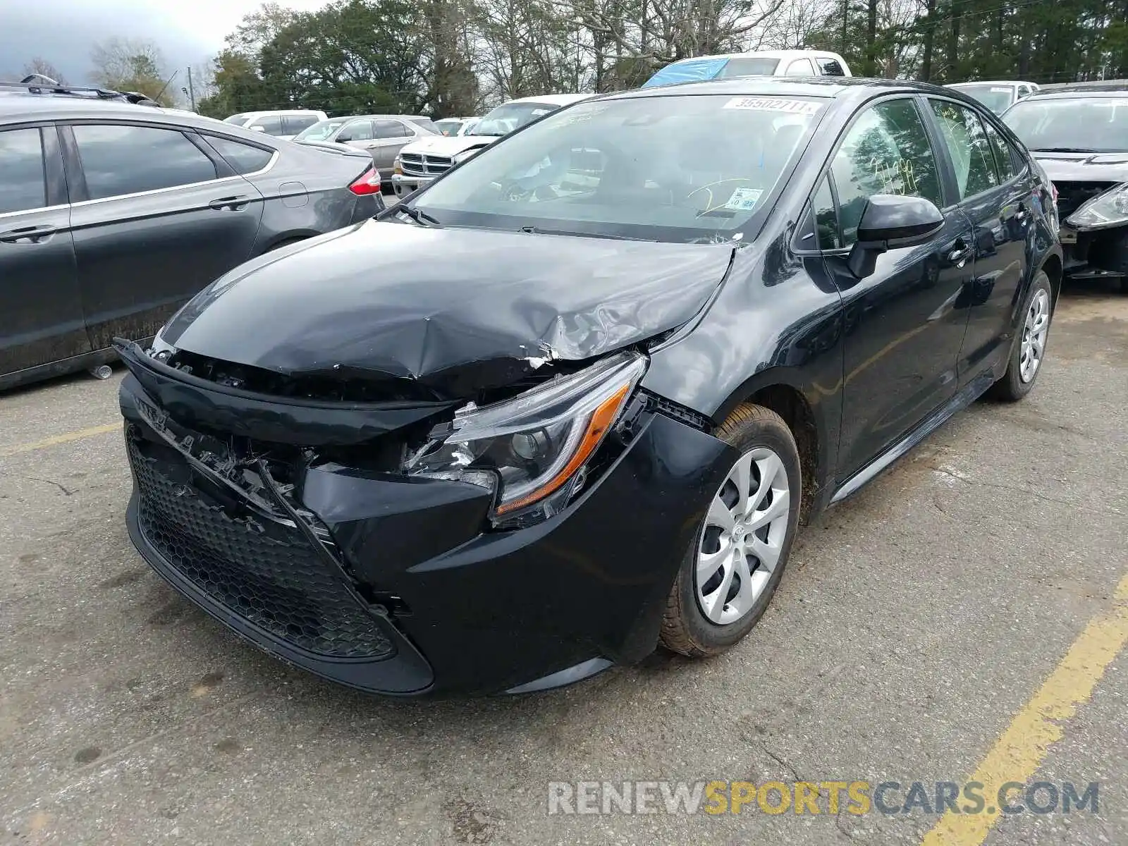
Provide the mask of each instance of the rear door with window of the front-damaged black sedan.
[{"label": "rear door with window of the front-damaged black sedan", "polygon": [[1034,176],[979,109],[938,97],[929,111],[949,150],[950,178],[975,233],[976,273],[964,298],[968,329],[960,351],[961,384],[1010,349],[1011,317],[1028,273]]}]

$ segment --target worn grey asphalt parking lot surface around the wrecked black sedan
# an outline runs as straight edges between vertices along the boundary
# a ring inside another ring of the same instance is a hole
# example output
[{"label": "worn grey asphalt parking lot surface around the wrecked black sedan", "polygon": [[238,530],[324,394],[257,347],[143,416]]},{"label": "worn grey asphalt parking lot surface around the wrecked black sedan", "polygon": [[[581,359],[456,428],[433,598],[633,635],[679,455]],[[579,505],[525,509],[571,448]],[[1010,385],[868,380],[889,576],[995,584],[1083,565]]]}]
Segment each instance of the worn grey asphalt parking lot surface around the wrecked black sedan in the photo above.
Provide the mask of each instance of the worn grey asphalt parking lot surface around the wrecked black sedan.
[{"label": "worn grey asphalt parking lot surface around the wrecked black sedan", "polygon": [[977,770],[1099,782],[1100,808],[989,832],[963,817],[927,843],[1128,843],[1128,298],[1111,290],[1066,293],[1024,403],[976,404],[802,534],[730,653],[514,699],[353,694],[174,594],[126,538],[120,378],[0,397],[0,843],[919,843],[935,814],[549,816],[548,783],[904,797]]}]

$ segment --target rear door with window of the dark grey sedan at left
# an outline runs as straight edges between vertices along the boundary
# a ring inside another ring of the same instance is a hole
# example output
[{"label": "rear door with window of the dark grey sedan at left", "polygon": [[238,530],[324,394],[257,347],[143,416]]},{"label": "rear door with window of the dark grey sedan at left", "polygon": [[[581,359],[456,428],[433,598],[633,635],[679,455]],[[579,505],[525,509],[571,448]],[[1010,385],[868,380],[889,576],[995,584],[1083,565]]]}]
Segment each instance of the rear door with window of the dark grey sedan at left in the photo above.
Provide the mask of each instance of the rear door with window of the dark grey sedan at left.
[{"label": "rear door with window of the dark grey sedan at left", "polygon": [[144,338],[250,256],[258,191],[192,132],[82,122],[64,127],[74,255],[90,343]]}]

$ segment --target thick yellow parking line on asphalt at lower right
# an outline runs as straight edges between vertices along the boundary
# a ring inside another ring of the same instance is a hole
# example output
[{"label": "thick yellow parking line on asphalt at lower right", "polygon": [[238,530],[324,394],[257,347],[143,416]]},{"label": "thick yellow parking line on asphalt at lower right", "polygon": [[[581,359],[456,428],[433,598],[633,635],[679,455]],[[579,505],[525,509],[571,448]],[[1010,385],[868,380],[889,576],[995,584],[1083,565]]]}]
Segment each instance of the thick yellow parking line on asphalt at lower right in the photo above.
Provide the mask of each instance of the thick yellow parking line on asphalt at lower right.
[{"label": "thick yellow parking line on asphalt at lower right", "polygon": [[[1065,658],[1033,698],[1015,715],[968,781],[981,782],[988,804],[1007,782],[1026,783],[1041,766],[1052,743],[1065,734],[1061,721],[1089,699],[1104,670],[1128,644],[1128,575],[1120,580],[1116,605],[1090,620]],[[979,846],[996,813],[948,811],[925,835],[920,846]]]}]

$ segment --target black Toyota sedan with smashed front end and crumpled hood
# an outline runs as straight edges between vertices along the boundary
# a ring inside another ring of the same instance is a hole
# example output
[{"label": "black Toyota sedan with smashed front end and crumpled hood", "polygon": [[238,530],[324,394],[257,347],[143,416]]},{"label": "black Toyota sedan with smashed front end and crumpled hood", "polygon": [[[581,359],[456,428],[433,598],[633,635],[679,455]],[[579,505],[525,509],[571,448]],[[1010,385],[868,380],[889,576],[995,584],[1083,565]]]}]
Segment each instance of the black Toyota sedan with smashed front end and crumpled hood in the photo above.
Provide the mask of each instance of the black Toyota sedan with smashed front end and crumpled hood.
[{"label": "black Toyota sedan with smashed front end and crumpled hood", "polygon": [[131,537],[239,635],[364,690],[716,654],[801,523],[1031,389],[1049,202],[950,89],[561,109],[120,342]]}]

